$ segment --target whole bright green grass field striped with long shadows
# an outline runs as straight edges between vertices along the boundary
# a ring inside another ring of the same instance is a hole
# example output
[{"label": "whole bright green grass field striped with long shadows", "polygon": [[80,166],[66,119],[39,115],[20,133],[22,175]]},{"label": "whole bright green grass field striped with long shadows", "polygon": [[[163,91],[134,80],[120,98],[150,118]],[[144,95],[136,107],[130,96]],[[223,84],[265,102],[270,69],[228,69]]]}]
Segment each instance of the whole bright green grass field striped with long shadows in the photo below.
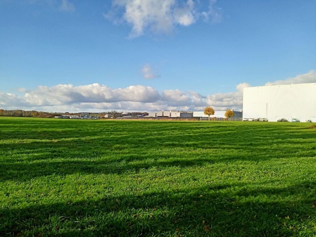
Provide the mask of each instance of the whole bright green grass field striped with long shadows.
[{"label": "whole bright green grass field striped with long shadows", "polygon": [[316,236],[311,125],[0,118],[0,236]]}]

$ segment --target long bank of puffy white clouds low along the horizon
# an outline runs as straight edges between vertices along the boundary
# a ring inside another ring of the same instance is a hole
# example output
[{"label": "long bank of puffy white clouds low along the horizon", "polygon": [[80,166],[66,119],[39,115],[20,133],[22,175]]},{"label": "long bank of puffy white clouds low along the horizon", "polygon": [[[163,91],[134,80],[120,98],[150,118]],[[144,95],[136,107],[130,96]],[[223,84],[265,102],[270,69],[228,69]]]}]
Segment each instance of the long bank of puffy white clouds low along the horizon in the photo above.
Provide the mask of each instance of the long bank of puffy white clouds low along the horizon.
[{"label": "long bank of puffy white clouds low along the horizon", "polygon": [[[295,78],[269,83],[305,82],[316,82],[316,72],[310,71]],[[111,110],[151,112],[158,110],[202,111],[205,106],[210,105],[215,111],[227,108],[241,110],[243,88],[249,86],[250,84],[243,82],[237,84],[233,92],[203,96],[194,91],[187,92],[179,89],[158,92],[155,88],[144,85],[111,88],[99,83],[79,86],[59,84],[51,87],[39,86],[27,91],[20,89],[20,93],[24,91],[22,96],[0,92],[0,109],[47,112]]]}]

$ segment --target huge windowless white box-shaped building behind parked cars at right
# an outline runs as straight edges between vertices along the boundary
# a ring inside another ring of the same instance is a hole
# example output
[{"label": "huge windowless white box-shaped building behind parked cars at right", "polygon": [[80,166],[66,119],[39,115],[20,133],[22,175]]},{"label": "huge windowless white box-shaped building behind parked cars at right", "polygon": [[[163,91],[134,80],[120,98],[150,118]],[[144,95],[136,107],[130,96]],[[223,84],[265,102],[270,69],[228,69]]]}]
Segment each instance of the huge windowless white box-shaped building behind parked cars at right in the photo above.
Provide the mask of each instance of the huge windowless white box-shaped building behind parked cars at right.
[{"label": "huge windowless white box-shaped building behind parked cars at right", "polygon": [[316,122],[316,83],[246,87],[242,111],[243,118]]}]

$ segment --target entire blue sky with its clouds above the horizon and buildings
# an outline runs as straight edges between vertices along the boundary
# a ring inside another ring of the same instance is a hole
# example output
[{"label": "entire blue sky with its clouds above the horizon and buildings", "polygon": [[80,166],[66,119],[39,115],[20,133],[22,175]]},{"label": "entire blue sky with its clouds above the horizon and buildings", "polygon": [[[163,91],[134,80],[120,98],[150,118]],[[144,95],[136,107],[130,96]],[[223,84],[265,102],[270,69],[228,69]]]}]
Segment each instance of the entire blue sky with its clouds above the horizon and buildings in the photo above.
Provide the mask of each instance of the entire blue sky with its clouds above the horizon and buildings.
[{"label": "entire blue sky with its clouds above the horizon and buildings", "polygon": [[0,109],[242,109],[316,82],[316,0],[0,0]]}]

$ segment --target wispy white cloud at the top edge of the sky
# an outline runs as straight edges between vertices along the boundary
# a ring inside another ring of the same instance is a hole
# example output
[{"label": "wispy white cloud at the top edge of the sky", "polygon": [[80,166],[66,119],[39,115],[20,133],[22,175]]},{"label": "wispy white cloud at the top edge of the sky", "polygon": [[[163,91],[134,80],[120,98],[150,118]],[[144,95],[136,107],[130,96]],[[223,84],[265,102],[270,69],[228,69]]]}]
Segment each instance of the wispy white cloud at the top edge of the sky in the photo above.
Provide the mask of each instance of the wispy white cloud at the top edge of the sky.
[{"label": "wispy white cloud at the top edge of the sky", "polygon": [[[113,0],[110,12],[104,16],[114,23],[126,22],[132,26],[130,37],[138,37],[146,30],[169,34],[175,26],[190,26],[200,16],[220,18],[221,13],[209,1],[207,11],[198,11],[198,0]],[[123,9],[123,12],[120,10]]]}]

